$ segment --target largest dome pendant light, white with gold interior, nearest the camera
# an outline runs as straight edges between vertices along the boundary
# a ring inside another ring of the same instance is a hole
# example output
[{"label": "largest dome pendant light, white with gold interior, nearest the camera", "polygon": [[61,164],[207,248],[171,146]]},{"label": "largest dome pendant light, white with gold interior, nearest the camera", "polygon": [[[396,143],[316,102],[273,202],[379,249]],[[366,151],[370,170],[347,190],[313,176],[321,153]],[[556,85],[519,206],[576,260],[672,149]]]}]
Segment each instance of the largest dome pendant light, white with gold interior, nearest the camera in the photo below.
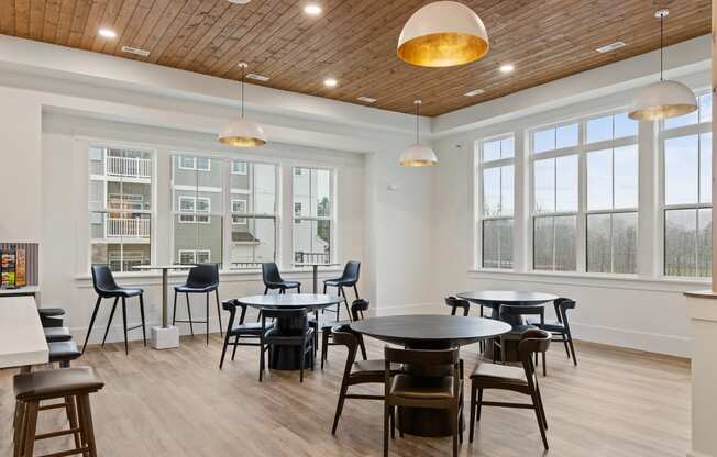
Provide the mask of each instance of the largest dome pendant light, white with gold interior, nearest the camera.
[{"label": "largest dome pendant light, white with gold interior, nearest the camera", "polygon": [[488,47],[488,33],[473,10],[456,1],[437,1],[406,22],[397,54],[419,67],[453,67],[482,58]]}]

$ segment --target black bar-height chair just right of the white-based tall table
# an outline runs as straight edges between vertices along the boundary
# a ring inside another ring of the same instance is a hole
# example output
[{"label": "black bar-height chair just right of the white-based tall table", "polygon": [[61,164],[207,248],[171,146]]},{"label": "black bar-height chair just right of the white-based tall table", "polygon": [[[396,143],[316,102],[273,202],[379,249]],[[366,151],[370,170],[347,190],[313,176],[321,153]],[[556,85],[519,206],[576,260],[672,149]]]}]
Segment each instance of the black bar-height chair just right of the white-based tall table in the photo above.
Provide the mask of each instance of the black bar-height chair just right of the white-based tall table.
[{"label": "black bar-height chair just right of the white-based tall table", "polygon": [[[209,344],[209,294],[214,292],[217,299],[217,316],[219,317],[219,334],[223,335],[221,323],[221,309],[219,308],[219,265],[218,264],[199,264],[191,267],[187,281],[184,285],[175,286],[174,288],[174,312],[172,314],[172,325],[177,322],[189,323],[189,331],[191,336],[195,336],[194,324],[206,324],[207,327],[207,344]],[[187,297],[187,320],[177,319],[177,294],[184,293]],[[206,315],[203,321],[194,321],[191,319],[191,304],[189,302],[190,293],[205,293],[207,294]]]}]

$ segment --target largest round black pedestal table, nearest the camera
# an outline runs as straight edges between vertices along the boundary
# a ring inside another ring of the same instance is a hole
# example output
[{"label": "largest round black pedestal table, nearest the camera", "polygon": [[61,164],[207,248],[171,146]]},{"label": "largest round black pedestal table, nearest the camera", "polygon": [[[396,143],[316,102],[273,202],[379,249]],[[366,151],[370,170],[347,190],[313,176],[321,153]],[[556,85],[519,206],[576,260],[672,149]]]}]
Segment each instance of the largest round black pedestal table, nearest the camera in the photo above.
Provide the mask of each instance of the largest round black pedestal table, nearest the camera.
[{"label": "largest round black pedestal table, nearest the camera", "polygon": [[[511,327],[505,322],[483,317],[394,315],[352,322],[351,328],[409,349],[448,349],[499,336]],[[412,376],[420,378],[422,375],[420,367],[405,368]],[[450,367],[445,367],[442,374],[450,374]],[[430,375],[435,376],[437,372]],[[405,433],[418,436],[451,436],[448,411],[406,408],[401,419]]]}]

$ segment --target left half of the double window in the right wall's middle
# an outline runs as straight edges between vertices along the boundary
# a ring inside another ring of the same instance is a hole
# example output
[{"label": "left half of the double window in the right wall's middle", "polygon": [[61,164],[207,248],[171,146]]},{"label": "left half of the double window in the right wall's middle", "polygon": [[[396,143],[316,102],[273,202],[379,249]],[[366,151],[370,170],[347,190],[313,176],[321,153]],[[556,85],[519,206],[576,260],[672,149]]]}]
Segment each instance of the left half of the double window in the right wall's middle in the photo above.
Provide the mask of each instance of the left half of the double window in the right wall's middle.
[{"label": "left half of the double window in the right wall's middle", "polygon": [[536,270],[576,270],[578,143],[577,123],[541,129],[530,135]]}]

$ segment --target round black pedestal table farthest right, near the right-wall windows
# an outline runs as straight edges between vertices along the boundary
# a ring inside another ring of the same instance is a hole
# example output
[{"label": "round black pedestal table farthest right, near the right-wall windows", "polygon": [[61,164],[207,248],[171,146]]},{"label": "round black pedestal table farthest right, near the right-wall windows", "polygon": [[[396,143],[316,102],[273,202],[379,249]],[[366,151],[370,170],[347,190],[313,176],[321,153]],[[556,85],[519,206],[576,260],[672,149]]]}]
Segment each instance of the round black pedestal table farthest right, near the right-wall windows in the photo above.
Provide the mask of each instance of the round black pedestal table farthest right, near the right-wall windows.
[{"label": "round black pedestal table farthest right, near the right-wall windows", "polygon": [[[456,294],[457,298],[467,300],[471,303],[481,304],[490,308],[490,319],[506,322],[510,325],[522,325],[525,320],[519,314],[500,313],[500,306],[544,306],[558,300],[558,296],[543,292],[519,292],[512,290],[483,290],[475,292],[462,292]],[[517,361],[517,344],[508,345],[506,350],[506,361]],[[493,344],[485,345],[484,357],[493,358]]]}]

